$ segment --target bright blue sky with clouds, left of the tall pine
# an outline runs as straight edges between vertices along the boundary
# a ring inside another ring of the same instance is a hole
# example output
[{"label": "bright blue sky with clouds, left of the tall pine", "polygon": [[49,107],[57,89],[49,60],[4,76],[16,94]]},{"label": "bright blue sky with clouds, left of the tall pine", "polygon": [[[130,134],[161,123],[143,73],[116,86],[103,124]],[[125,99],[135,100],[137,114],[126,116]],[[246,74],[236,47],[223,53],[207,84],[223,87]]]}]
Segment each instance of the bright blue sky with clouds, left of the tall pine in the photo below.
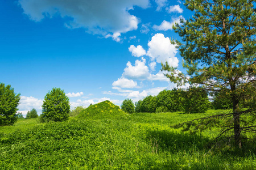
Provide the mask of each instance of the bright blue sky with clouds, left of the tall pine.
[{"label": "bright blue sky with clouds, left of the tall pine", "polygon": [[39,113],[53,87],[71,108],[121,105],[175,87],[160,71],[183,71],[172,24],[191,18],[180,1],[0,1],[0,82],[20,93],[19,111]]}]

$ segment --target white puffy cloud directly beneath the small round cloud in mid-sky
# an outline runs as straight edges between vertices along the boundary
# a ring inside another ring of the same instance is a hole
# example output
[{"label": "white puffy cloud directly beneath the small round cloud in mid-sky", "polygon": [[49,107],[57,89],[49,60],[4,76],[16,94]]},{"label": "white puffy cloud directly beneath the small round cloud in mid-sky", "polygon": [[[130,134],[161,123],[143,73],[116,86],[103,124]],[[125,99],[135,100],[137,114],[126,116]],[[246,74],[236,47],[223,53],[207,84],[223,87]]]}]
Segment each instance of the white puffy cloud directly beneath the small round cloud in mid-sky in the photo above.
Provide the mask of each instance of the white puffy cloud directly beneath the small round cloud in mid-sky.
[{"label": "white puffy cloud directly beneath the small round cloud in mid-sky", "polygon": [[146,59],[142,58],[142,61],[136,60],[135,66],[131,65],[131,62],[127,62],[126,68],[122,74],[123,77],[129,79],[144,80],[150,75],[148,67],[146,66]]}]

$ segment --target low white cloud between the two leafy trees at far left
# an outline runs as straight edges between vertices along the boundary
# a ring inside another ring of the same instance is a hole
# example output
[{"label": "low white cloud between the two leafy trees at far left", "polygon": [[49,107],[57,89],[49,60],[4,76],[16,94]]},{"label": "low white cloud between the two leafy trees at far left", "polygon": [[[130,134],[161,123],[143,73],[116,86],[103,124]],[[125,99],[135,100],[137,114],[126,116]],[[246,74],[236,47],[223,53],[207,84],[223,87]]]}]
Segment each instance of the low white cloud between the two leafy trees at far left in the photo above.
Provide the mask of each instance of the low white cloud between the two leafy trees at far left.
[{"label": "low white cloud between the two leafy trees at far left", "polygon": [[[30,111],[31,109],[35,108],[36,110],[42,110],[43,100],[36,99],[35,97],[27,97],[27,96],[20,96],[20,104],[18,106],[18,112],[22,111]],[[23,114],[23,112],[22,112]]]}]

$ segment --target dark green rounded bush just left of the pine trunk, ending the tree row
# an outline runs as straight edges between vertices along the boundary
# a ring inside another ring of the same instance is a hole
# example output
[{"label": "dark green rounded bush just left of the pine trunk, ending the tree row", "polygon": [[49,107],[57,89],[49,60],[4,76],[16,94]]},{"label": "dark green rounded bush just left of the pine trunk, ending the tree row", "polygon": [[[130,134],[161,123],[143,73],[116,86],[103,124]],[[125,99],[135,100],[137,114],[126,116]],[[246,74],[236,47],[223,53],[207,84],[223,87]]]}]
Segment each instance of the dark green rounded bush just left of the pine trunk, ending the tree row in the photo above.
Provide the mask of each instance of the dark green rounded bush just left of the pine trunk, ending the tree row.
[{"label": "dark green rounded bush just left of the pine trunk, ending the tree row", "polygon": [[207,92],[200,87],[191,87],[183,93],[183,108],[185,113],[205,113],[210,107]]}]

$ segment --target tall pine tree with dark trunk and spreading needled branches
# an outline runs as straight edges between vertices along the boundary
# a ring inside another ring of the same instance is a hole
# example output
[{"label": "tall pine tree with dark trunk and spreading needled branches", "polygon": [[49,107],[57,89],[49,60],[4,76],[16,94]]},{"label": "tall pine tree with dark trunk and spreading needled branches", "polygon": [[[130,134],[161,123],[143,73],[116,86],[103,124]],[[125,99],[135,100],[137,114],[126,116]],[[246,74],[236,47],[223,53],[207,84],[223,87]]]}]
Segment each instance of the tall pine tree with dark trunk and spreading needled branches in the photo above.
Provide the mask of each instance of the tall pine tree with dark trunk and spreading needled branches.
[{"label": "tall pine tree with dark trunk and spreading needled branches", "polygon": [[[222,97],[231,97],[233,112],[213,118],[229,120],[220,135],[233,131],[228,138],[234,138],[235,145],[241,147],[241,133],[256,130],[255,1],[185,0],[184,5],[195,13],[191,19],[181,19],[180,25],[174,25],[182,41],[171,43],[179,48],[187,73],[167,62],[162,64],[162,70],[169,71],[166,76],[178,85],[189,83],[209,94],[218,91]],[[242,109],[240,103],[247,103],[249,108]],[[251,117],[250,125],[248,121],[242,123],[244,116]]]}]

